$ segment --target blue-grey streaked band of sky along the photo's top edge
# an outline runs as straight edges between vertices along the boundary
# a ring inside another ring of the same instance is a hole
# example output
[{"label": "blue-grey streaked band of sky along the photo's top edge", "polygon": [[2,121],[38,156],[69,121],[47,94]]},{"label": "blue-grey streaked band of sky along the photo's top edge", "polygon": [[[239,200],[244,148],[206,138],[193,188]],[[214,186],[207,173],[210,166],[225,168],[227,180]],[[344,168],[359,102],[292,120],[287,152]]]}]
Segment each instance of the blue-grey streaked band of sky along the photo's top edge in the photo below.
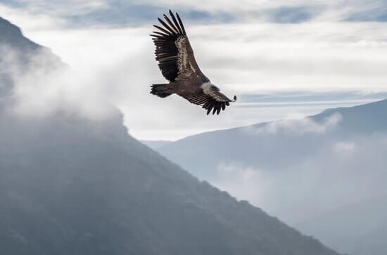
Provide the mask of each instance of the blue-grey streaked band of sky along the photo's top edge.
[{"label": "blue-grey streaked band of sky along the photo's top edge", "polygon": [[198,23],[265,21],[386,22],[387,2],[383,0],[306,1],[136,1],[136,0],[2,0],[11,8],[57,15],[71,25],[139,25],[154,20],[167,8],[178,10],[186,20]]}]

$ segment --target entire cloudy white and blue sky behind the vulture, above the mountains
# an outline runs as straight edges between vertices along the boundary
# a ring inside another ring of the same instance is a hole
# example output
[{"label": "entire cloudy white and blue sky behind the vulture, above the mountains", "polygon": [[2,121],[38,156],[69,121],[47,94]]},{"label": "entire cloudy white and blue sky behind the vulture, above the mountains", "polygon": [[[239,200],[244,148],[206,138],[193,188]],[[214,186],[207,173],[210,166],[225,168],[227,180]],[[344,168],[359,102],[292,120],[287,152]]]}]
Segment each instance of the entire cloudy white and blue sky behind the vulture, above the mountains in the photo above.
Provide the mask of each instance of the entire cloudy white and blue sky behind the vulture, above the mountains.
[{"label": "entire cloudy white and blue sky behind the vulture, above the mountains", "polygon": [[[220,116],[208,117],[178,96],[149,94],[151,84],[165,79],[148,34],[169,8],[182,16],[201,70],[239,97]],[[58,91],[93,102],[88,107],[108,100],[124,113],[129,133],[143,140],[386,98],[386,1],[1,0],[0,16],[80,75],[77,86]]]}]

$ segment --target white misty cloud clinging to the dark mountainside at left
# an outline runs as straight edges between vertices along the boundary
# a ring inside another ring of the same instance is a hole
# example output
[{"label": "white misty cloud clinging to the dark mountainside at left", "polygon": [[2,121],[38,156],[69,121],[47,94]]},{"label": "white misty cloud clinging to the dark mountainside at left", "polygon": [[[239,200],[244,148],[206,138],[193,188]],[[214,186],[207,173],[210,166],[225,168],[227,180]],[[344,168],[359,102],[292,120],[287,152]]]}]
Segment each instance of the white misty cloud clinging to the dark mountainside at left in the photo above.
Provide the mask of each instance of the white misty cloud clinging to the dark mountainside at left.
[{"label": "white misty cloud clinging to the dark mountainside at left", "polygon": [[[42,117],[68,110],[93,119],[114,112],[108,96],[103,94],[103,86],[95,85],[96,77],[77,74],[46,49],[21,53],[1,46],[0,53],[2,64],[8,67],[6,73],[11,74],[13,81],[8,112]],[[26,60],[29,62],[25,63]]]}]

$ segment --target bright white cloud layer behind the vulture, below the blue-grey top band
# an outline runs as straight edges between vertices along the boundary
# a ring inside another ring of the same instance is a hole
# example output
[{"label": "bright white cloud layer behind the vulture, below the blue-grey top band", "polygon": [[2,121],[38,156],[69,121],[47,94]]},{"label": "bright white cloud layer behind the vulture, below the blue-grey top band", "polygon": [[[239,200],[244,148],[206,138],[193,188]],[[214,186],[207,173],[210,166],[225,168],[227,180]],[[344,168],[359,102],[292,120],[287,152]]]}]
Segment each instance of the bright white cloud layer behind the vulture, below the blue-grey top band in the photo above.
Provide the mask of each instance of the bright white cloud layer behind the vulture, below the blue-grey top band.
[{"label": "bright white cloud layer behind the vulture, below the blue-grey top band", "polygon": [[[262,1],[260,5],[270,3]],[[153,58],[148,37],[151,24],[70,29],[65,20],[49,13],[1,4],[0,13],[23,27],[27,37],[49,46],[72,70],[87,77],[88,85],[80,84],[84,87],[80,91],[101,93],[97,97],[120,107],[131,133],[138,138],[177,139],[289,114],[284,107],[257,110],[236,107],[236,103],[218,117],[207,117],[200,107],[177,96],[160,99],[149,95],[151,84],[165,81]],[[238,22],[189,24],[186,30],[201,69],[229,96],[268,91],[387,91],[387,60],[383,58],[387,54],[387,30],[382,23]],[[298,106],[290,111],[310,115],[324,107]]]}]

